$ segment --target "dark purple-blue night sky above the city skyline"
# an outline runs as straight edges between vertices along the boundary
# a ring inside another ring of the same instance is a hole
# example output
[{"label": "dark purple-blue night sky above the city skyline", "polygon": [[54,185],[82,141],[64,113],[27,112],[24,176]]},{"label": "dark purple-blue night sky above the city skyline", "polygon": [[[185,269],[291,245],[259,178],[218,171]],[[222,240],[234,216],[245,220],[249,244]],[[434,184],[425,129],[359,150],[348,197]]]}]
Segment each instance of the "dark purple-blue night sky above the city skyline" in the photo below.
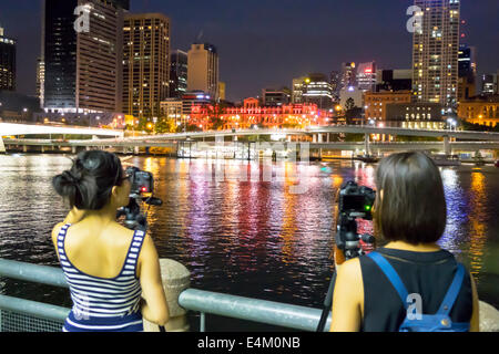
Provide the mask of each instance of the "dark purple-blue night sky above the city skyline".
[{"label": "dark purple-blue night sky above the city skyline", "polygon": [[[410,69],[406,9],[413,0],[131,0],[132,12],[162,12],[172,21],[172,50],[200,35],[217,46],[227,98],[292,85],[309,72],[328,74],[342,62],[376,61]],[[40,0],[1,0],[0,24],[18,40],[18,91],[34,94],[40,55]],[[499,69],[498,0],[462,0],[461,30],[477,48],[478,72]]]}]

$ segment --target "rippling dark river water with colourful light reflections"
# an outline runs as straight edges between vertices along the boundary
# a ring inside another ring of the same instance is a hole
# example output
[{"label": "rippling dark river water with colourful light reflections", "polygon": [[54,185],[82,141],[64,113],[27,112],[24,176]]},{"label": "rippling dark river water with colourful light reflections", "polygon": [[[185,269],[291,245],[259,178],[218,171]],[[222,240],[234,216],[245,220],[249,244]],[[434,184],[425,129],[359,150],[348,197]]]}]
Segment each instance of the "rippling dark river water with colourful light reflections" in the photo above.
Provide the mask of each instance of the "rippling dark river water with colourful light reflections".
[{"label": "rippling dark river water with colourful light reflections", "polygon": [[[163,205],[149,210],[151,236],[160,257],[187,267],[193,288],[313,308],[322,308],[333,271],[335,192],[346,180],[374,187],[376,168],[349,160],[128,163],[154,174]],[[70,165],[64,155],[0,156],[0,258],[58,267],[50,231],[68,210],[51,178]],[[445,167],[441,175],[448,226],[439,243],[475,275],[481,300],[498,308],[499,169]],[[368,221],[360,228],[371,231]],[[71,304],[65,290],[7,279],[0,292]]]}]

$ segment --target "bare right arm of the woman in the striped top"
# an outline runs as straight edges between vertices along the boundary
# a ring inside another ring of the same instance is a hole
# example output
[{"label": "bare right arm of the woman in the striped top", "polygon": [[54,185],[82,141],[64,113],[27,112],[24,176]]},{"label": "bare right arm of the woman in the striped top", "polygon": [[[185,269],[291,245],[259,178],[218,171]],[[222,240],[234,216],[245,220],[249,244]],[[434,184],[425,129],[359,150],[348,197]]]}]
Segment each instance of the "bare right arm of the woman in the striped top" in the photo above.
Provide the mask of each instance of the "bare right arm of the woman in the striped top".
[{"label": "bare right arm of the woman in the striped top", "polygon": [[145,320],[165,325],[170,320],[169,305],[161,280],[160,260],[156,248],[151,237],[147,235],[142,244],[139,257],[140,274],[142,287],[142,315]]}]

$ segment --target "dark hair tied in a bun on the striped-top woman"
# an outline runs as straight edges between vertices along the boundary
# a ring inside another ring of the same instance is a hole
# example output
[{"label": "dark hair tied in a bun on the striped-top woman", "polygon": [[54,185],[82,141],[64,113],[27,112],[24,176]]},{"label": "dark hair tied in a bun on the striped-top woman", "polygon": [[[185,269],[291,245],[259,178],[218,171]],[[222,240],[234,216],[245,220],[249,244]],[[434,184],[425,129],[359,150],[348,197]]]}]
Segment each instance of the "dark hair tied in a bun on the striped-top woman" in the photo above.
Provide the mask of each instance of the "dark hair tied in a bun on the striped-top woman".
[{"label": "dark hair tied in a bun on the striped-top woman", "polygon": [[90,150],[80,153],[71,169],[53,177],[52,186],[71,208],[100,210],[109,202],[112,188],[121,185],[122,175],[116,155]]}]

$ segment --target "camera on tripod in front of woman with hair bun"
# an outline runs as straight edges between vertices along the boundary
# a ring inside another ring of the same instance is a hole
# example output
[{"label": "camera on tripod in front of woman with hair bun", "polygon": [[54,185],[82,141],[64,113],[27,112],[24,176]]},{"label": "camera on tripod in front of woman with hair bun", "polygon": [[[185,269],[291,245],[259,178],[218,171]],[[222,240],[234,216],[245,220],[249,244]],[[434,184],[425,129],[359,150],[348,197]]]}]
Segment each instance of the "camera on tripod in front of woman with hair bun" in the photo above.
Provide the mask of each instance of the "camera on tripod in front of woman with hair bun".
[{"label": "camera on tripod in front of woman with hair bun", "polygon": [[129,229],[146,231],[147,218],[142,212],[139,202],[143,201],[149,206],[161,206],[163,201],[160,198],[152,196],[154,192],[154,177],[151,173],[141,170],[136,167],[128,167],[125,173],[132,184],[130,202],[126,207],[118,210],[116,218],[124,216],[124,225]]}]

